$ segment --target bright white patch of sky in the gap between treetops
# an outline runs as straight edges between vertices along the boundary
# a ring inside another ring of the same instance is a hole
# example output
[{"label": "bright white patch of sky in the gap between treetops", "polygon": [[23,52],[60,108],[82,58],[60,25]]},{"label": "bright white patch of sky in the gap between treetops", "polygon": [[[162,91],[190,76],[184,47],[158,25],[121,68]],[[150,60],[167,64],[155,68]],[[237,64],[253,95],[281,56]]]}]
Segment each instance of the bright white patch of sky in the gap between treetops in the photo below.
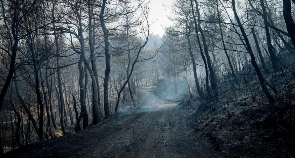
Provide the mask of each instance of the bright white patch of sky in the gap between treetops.
[{"label": "bright white patch of sky in the gap between treetops", "polygon": [[154,22],[150,26],[150,30],[153,34],[162,36],[164,34],[163,28],[173,24],[173,22],[167,18],[171,13],[170,10],[173,1],[174,0],[150,0],[149,18]]}]

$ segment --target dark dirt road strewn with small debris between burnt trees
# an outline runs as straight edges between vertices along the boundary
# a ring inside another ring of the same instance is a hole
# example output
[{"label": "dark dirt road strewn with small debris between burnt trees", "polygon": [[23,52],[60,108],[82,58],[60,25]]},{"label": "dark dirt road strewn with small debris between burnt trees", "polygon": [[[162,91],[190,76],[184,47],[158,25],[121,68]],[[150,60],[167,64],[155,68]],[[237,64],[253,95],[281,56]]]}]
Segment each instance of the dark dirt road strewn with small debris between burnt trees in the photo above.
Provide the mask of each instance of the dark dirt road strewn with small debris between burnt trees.
[{"label": "dark dirt road strewn with small debris between burnt trees", "polygon": [[[150,90],[147,90],[150,91]],[[152,91],[148,95],[153,95]],[[154,96],[150,96],[153,98]],[[206,158],[219,157],[208,151],[186,123],[188,115],[175,103],[154,99],[142,110],[112,116],[79,133],[31,144],[7,157],[69,158]]]}]

